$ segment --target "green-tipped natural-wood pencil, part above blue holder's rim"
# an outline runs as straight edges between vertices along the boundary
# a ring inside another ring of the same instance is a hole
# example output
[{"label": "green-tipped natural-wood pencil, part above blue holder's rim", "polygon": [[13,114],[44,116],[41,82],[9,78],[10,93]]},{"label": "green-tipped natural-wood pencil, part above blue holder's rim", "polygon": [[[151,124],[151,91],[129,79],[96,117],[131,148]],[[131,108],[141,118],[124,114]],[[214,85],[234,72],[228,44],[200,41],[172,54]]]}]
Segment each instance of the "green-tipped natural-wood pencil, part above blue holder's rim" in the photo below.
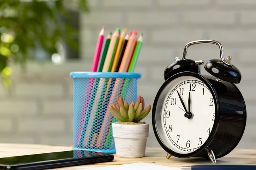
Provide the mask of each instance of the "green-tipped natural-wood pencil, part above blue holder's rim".
[{"label": "green-tipped natural-wood pencil, part above blue holder's rim", "polygon": [[117,46],[117,42],[118,42],[118,38],[119,38],[119,30],[120,29],[117,28],[114,31],[113,36],[112,36],[112,38],[110,40],[107,56],[106,56],[105,63],[103,65],[103,69],[102,69],[103,72],[110,71],[112,60],[113,60],[113,57],[115,55],[115,48]]}]

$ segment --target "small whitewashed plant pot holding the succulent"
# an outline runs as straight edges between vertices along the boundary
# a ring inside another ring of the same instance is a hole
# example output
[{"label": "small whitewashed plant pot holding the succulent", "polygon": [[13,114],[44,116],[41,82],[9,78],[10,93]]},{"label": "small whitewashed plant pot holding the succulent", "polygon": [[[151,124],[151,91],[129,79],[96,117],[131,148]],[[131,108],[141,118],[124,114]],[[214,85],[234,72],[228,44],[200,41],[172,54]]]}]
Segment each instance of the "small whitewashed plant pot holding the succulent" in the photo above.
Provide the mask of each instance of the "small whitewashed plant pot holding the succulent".
[{"label": "small whitewashed plant pot holding the succulent", "polygon": [[118,157],[140,158],[145,156],[149,124],[112,124],[115,151]]}]

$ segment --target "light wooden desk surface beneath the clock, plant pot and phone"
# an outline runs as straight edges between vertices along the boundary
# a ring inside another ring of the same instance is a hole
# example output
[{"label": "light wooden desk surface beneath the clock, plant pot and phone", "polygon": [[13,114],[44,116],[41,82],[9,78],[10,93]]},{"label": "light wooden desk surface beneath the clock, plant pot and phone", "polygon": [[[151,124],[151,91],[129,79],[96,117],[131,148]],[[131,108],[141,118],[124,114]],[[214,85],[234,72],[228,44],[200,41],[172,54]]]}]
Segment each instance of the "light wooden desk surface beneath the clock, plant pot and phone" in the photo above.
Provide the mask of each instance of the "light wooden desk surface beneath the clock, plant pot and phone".
[{"label": "light wooden desk surface beneath the clock, plant pot and phone", "polygon": [[[29,155],[36,153],[58,152],[71,150],[72,146],[56,146],[56,145],[35,145],[35,144],[1,144],[0,157]],[[175,158],[166,159],[166,152],[160,148],[147,148],[145,157],[143,158],[119,158],[114,154],[112,162],[98,163],[92,165],[70,166],[66,168],[57,168],[55,170],[76,170],[86,169],[96,166],[120,165],[129,163],[151,163],[165,166],[181,167],[197,164],[212,164],[209,159],[204,158]],[[240,165],[256,165],[256,149],[234,149],[225,157],[217,159],[217,164],[240,164]]]}]

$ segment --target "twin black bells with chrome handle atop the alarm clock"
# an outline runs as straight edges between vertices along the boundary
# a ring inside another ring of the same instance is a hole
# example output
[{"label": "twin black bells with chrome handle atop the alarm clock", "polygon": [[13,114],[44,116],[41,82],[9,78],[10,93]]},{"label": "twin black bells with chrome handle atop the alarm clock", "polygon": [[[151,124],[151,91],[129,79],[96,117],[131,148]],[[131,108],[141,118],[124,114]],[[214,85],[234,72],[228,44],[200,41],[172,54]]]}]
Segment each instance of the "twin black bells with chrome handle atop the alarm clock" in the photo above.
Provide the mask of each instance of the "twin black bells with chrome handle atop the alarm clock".
[{"label": "twin black bells with chrome handle atop the alarm clock", "polygon": [[204,68],[208,73],[216,77],[216,81],[227,81],[231,83],[239,83],[241,80],[241,73],[238,70],[237,67],[232,65],[231,62],[231,57],[227,57],[225,60],[224,55],[223,55],[223,47],[222,45],[215,40],[196,40],[192,41],[186,44],[183,52],[183,57],[182,59],[179,59],[179,57],[176,57],[176,61],[169,64],[165,71],[164,71],[164,78],[167,80],[169,77],[171,77],[174,74],[183,72],[183,71],[191,71],[194,73],[200,74],[200,64],[204,64],[204,61],[194,61],[192,59],[186,59],[186,53],[187,53],[187,48],[190,45],[193,44],[201,44],[201,43],[211,43],[211,44],[216,44],[219,46],[220,49],[220,59],[212,59],[208,61],[205,65]]}]

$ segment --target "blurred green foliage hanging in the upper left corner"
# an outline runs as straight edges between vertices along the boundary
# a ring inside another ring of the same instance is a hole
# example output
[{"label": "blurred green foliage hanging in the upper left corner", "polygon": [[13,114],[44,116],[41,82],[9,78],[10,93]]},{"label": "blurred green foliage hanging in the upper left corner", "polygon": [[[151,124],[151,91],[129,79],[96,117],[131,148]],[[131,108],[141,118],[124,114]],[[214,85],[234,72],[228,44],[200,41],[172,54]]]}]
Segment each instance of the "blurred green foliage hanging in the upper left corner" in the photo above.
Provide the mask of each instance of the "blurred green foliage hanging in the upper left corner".
[{"label": "blurred green foliage hanging in the upper left corner", "polygon": [[50,57],[62,39],[78,50],[78,30],[68,22],[72,18],[66,6],[89,11],[87,0],[0,0],[0,73],[5,87],[11,85],[10,63],[24,67],[35,59],[35,49]]}]

